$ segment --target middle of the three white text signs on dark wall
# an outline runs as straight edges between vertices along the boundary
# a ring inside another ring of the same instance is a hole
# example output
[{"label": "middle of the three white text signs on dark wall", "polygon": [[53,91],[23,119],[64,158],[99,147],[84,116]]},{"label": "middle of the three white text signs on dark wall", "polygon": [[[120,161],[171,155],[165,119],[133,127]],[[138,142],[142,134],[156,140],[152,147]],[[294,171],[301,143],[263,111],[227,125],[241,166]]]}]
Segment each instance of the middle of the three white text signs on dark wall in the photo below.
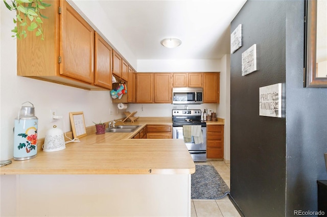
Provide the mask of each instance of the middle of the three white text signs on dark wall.
[{"label": "middle of the three white text signs on dark wall", "polygon": [[256,44],[242,53],[242,76],[256,71]]}]

